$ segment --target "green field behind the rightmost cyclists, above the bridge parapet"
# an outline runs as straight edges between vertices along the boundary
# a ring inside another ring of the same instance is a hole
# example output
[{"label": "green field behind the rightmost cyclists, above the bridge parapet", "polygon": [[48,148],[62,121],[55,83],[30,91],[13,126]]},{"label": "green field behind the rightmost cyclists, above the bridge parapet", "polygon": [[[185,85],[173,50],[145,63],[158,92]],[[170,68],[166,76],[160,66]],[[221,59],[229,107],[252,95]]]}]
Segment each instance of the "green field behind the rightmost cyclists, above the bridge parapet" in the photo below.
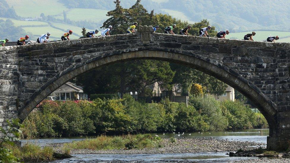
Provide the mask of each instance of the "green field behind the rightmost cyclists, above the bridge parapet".
[{"label": "green field behind the rightmost cyclists, above the bridge parapet", "polygon": [[[253,37],[253,39],[255,41],[263,41],[263,40],[267,40],[268,36],[272,35],[272,36],[279,36],[279,37],[290,37],[290,32],[279,32],[279,31],[255,31],[256,35]],[[248,33],[252,33],[252,31],[248,31],[248,32],[238,32],[238,33],[230,33],[229,35],[226,35],[226,38],[232,39],[232,38],[236,38],[236,39],[244,39],[244,36]],[[281,42],[283,40],[283,42],[289,42],[289,39],[280,39],[279,42]]]}]

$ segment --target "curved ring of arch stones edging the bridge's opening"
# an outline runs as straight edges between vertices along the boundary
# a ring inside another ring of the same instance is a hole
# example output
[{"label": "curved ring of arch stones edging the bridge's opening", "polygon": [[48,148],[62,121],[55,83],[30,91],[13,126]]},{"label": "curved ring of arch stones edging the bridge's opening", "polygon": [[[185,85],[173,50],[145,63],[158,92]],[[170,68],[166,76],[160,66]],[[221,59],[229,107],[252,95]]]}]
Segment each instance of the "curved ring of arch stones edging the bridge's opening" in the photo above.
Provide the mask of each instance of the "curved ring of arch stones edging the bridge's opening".
[{"label": "curved ring of arch stones edging the bridge's opening", "polygon": [[217,61],[212,61],[209,58],[196,54],[184,54],[181,51],[180,53],[171,53],[161,50],[118,50],[91,58],[82,63],[77,63],[51,78],[38,92],[34,93],[19,110],[18,118],[23,121],[36,105],[70,79],[97,67],[135,59],[154,59],[173,62],[216,77],[248,97],[266,118],[270,128],[269,136],[271,137],[272,134],[275,134],[275,129],[278,128],[276,120],[277,110],[275,109],[274,103],[259,88],[239,75],[234,69],[229,69],[225,65]]}]

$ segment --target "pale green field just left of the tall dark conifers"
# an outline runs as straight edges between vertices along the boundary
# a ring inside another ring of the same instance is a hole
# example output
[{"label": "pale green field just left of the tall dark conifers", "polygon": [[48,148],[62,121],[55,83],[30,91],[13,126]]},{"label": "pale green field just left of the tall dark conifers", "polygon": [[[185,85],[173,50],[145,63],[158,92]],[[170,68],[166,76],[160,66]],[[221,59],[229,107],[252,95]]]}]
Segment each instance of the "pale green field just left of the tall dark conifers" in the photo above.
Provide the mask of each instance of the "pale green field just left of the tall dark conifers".
[{"label": "pale green field just left of the tall dark conifers", "polygon": [[[106,16],[107,10],[99,10],[99,9],[71,9],[66,11],[67,18],[74,21],[79,20],[88,20],[93,22],[100,22],[102,20],[108,19]],[[63,14],[59,16],[55,16],[57,19],[63,19]]]}]

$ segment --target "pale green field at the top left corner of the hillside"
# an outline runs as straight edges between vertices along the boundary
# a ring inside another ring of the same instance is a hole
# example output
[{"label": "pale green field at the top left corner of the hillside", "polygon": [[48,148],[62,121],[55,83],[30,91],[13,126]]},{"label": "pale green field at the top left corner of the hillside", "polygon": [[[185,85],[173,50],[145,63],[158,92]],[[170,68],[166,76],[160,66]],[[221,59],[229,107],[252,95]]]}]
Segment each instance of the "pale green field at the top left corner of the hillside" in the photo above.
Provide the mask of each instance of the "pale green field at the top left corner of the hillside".
[{"label": "pale green field at the top left corner of the hillside", "polygon": [[41,13],[45,15],[57,15],[67,10],[64,4],[59,3],[58,0],[7,0],[8,5],[13,6],[17,15],[21,17],[40,16]]}]

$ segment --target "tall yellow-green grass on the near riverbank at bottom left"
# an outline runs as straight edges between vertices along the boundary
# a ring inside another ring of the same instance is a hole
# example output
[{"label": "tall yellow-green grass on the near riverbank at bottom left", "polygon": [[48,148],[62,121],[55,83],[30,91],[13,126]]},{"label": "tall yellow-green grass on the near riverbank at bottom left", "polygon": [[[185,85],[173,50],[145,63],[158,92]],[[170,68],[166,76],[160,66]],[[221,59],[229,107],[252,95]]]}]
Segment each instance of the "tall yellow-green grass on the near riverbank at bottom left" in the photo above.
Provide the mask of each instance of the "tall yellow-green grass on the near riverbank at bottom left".
[{"label": "tall yellow-green grass on the near riverbank at bottom left", "polygon": [[41,148],[38,145],[26,143],[22,147],[7,145],[13,155],[24,162],[44,162],[54,160],[54,150],[51,147]]}]

